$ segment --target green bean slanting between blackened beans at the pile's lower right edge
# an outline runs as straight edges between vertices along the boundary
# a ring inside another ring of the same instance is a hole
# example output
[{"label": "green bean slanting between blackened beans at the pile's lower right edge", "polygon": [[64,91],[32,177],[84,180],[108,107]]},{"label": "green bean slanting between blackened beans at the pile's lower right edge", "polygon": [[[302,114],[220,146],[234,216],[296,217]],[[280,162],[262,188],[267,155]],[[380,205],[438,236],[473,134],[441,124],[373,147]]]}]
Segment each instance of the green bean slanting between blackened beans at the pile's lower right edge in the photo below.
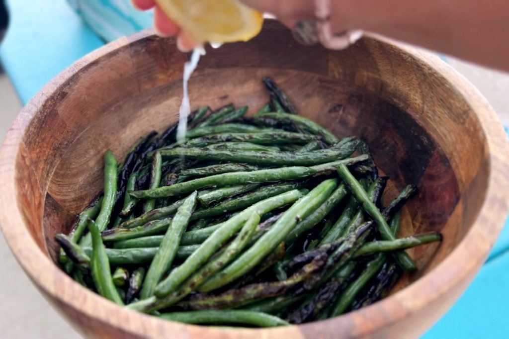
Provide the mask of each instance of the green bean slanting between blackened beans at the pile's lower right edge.
[{"label": "green bean slanting between blackened beans at the pile's lower right edge", "polygon": [[382,265],[385,263],[386,256],[380,253],[367,263],[364,271],[359,275],[355,281],[353,281],[350,286],[343,292],[340,299],[335,304],[332,310],[332,317],[337,317],[343,314],[347,308],[352,304],[355,296],[360,292],[360,290],[367,284],[367,282],[382,268]]}]

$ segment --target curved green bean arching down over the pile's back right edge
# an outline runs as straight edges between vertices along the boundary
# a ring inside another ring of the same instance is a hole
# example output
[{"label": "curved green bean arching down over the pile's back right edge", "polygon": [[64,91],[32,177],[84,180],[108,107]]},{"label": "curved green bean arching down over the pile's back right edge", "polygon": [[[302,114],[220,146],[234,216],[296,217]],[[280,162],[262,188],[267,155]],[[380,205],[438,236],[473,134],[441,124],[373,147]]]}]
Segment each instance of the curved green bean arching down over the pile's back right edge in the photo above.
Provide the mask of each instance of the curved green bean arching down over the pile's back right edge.
[{"label": "curved green bean arching down over the pile's back right edge", "polygon": [[321,136],[324,142],[329,145],[333,145],[338,142],[338,139],[334,136],[334,134],[322,126],[309,119],[297,115],[289,115],[284,113],[264,113],[253,117],[253,122],[263,123],[271,127],[281,123],[291,124],[297,126],[298,129],[309,131],[310,133]]}]

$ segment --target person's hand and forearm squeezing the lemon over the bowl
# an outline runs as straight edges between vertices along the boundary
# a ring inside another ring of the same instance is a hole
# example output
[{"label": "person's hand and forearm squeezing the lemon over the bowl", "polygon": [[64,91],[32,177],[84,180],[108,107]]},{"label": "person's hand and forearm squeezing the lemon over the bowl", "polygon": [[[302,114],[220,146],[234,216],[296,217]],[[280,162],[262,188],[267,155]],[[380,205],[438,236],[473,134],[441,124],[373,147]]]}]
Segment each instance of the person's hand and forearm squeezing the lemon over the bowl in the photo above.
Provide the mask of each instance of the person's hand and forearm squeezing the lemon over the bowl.
[{"label": "person's hand and forearm squeezing the lemon over the bowl", "polygon": [[[155,6],[154,0],[132,0],[139,9]],[[241,0],[294,27],[301,19],[315,17],[314,0]],[[333,32],[360,29],[430,48],[491,67],[509,70],[509,2],[491,0],[331,0]],[[156,32],[178,35],[179,49],[188,51],[192,41],[157,8]]]}]

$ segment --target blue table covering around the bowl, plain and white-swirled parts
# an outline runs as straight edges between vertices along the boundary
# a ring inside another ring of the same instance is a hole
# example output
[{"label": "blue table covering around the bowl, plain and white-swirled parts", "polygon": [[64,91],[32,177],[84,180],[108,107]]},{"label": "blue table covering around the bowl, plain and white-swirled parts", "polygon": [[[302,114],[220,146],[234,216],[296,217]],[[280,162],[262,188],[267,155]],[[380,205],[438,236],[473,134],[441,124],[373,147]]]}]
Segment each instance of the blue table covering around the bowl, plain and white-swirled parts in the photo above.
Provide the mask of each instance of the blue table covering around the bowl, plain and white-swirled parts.
[{"label": "blue table covering around the bowl, plain and white-swirled parts", "polygon": [[[147,17],[132,15],[127,0],[72,0],[103,39],[129,34],[148,26]],[[86,3],[87,6],[83,6]],[[122,4],[109,8],[110,4]],[[0,46],[0,60],[22,101],[26,103],[51,78],[104,41],[82,21],[65,0],[8,0],[11,24]],[[125,31],[114,32],[103,13]],[[109,9],[108,9],[109,8]],[[120,8],[120,10],[119,10]],[[122,10],[123,8],[123,10]],[[126,16],[122,18],[122,16]],[[103,26],[101,26],[103,25]],[[453,337],[505,337],[509,321],[504,310],[509,305],[509,219],[490,257],[472,285],[449,312],[425,335],[426,339]]]}]

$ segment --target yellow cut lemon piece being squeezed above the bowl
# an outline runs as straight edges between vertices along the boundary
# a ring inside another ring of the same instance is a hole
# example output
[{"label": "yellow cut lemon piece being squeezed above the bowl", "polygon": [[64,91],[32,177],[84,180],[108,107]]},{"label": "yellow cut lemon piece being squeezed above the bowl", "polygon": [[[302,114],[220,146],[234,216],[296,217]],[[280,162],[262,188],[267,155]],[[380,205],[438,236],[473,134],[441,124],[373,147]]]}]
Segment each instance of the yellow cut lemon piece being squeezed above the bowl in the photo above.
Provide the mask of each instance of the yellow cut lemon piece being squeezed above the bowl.
[{"label": "yellow cut lemon piece being squeezed above the bowl", "polygon": [[263,25],[262,13],[238,0],[156,0],[196,44],[247,41]]}]

